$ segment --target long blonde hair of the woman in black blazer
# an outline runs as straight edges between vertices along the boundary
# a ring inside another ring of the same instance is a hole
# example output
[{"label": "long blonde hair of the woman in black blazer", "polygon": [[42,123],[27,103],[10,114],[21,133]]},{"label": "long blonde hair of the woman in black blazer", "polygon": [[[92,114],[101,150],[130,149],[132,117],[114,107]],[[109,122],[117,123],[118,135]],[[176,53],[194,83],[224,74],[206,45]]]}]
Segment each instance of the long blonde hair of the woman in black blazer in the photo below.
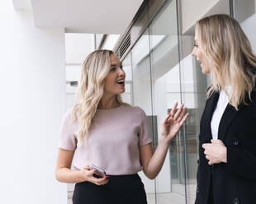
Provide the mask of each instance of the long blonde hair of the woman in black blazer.
[{"label": "long blonde hair of the woman in black blazer", "polygon": [[197,21],[196,32],[211,71],[207,98],[214,91],[225,90],[226,77],[230,77],[230,104],[238,110],[239,104],[246,104],[247,94],[250,99],[255,86],[256,56],[249,39],[238,21],[225,14]]}]

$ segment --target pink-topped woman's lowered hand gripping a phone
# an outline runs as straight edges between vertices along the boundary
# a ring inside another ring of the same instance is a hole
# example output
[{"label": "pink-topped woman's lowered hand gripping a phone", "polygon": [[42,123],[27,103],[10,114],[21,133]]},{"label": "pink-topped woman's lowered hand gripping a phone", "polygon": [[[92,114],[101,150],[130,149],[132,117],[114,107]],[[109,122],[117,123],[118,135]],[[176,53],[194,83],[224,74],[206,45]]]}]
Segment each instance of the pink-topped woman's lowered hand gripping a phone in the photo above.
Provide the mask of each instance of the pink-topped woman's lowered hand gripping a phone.
[{"label": "pink-topped woman's lowered hand gripping a phone", "polygon": [[81,170],[82,176],[84,181],[88,181],[90,183],[94,183],[98,186],[102,186],[108,183],[109,181],[109,176],[105,176],[103,178],[96,178],[93,176],[93,174],[97,174],[96,169],[89,169],[89,166],[86,165],[82,170]]}]

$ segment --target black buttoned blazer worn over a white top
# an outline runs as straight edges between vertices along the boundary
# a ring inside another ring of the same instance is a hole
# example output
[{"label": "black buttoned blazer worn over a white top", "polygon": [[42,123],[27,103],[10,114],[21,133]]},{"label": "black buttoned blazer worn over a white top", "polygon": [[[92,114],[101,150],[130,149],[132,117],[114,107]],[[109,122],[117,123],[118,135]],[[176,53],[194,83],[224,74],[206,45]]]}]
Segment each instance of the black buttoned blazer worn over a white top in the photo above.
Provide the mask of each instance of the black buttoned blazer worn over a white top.
[{"label": "black buttoned blazer worn over a white top", "polygon": [[219,93],[206,100],[201,116],[199,134],[199,160],[197,169],[196,204],[206,204],[212,183],[216,204],[256,203],[256,90],[249,105],[239,105],[236,111],[227,105],[218,132],[218,139],[227,147],[227,163],[208,165],[203,143],[211,143],[211,117],[216,109]]}]

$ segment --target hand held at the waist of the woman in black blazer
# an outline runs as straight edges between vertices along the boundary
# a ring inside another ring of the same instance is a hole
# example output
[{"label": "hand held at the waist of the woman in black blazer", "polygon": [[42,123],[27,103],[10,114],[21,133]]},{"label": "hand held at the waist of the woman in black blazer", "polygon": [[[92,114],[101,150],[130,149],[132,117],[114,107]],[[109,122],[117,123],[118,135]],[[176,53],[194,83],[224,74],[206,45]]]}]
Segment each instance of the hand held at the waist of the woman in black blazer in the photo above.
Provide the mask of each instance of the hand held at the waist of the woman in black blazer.
[{"label": "hand held at the waist of the woman in black blazer", "polygon": [[226,147],[221,140],[211,140],[211,143],[205,143],[202,145],[205,149],[204,154],[206,159],[209,160],[208,164],[218,164],[220,162],[226,163]]}]

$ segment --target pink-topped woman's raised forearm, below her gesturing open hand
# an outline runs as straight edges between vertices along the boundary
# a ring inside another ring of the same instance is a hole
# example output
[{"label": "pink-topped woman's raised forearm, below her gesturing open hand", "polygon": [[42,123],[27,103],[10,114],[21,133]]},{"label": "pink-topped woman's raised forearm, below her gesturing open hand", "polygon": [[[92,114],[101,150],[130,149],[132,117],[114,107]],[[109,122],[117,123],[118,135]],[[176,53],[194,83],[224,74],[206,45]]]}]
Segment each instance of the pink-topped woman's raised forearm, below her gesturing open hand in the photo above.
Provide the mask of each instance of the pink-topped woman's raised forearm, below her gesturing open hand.
[{"label": "pink-topped woman's raised forearm, below her gesturing open hand", "polygon": [[164,160],[168,151],[168,146],[169,141],[166,141],[162,138],[159,140],[159,145],[154,151],[154,155],[149,160],[149,163],[144,166],[144,173],[148,178],[154,179],[159,174],[159,171],[162,169],[162,166],[164,165]]}]

